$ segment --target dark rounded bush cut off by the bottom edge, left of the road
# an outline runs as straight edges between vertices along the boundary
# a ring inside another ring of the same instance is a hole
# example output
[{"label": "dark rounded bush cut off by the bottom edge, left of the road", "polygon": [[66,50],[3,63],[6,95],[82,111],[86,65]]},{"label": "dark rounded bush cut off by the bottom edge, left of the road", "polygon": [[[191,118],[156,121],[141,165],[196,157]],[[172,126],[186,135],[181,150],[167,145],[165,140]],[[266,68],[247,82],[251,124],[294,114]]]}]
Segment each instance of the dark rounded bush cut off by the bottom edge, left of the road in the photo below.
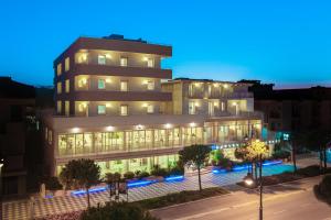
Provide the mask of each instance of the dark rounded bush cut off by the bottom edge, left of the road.
[{"label": "dark rounded bush cut off by the bottom edge, left of the road", "polygon": [[138,204],[115,202],[106,206],[93,207],[84,211],[82,220],[157,220],[149,211],[142,209]]}]

